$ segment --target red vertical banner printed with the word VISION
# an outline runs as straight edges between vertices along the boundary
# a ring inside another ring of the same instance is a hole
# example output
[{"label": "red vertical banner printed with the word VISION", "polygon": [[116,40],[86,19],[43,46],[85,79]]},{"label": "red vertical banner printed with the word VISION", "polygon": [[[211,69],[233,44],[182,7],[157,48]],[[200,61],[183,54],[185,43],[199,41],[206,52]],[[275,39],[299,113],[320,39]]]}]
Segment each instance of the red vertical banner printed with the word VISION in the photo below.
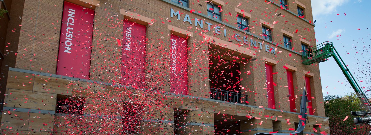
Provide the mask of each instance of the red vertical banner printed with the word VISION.
[{"label": "red vertical banner printed with the word VISION", "polygon": [[122,85],[145,86],[145,41],[147,27],[124,20],[122,41]]}]

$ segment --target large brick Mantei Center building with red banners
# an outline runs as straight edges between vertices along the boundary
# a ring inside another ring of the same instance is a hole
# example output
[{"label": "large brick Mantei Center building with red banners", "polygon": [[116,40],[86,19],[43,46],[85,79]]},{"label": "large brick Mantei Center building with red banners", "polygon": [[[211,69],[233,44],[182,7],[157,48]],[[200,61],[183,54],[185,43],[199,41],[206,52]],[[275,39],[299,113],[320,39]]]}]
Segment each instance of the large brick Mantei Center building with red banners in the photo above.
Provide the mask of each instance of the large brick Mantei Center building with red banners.
[{"label": "large brick Mantei Center building with red banners", "polygon": [[0,3],[4,134],[329,134],[308,0]]}]

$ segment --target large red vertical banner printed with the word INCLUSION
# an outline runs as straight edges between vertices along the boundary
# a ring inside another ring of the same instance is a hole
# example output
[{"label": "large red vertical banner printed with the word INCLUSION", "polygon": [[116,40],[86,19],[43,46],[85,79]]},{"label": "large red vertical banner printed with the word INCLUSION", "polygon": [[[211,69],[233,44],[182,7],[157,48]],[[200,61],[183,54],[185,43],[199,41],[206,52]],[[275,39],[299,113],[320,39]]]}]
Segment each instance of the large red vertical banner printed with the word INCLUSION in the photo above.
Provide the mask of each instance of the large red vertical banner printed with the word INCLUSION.
[{"label": "large red vertical banner printed with the word INCLUSION", "polygon": [[89,79],[94,10],[65,2],[57,75]]}]

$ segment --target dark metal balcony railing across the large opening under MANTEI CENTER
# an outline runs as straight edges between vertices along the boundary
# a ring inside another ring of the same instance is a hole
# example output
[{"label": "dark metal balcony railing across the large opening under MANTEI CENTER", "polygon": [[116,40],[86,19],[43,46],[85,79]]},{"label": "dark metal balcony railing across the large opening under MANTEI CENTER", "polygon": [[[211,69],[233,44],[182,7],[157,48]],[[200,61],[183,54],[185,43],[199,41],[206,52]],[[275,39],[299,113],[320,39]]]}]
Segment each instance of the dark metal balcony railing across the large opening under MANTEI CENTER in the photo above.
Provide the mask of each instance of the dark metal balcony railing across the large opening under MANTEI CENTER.
[{"label": "dark metal balcony railing across the large opening under MANTEI CENTER", "polygon": [[210,88],[210,99],[247,105],[247,96],[236,92]]}]

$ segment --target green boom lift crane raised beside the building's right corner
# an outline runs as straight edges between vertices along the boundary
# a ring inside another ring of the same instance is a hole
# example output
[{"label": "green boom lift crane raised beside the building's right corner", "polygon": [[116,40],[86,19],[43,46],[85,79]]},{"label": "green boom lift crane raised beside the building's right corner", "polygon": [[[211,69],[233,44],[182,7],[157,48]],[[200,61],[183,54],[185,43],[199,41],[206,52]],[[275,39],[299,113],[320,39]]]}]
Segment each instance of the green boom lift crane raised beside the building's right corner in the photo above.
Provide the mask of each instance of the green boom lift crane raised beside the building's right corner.
[{"label": "green boom lift crane raised beside the building's right corner", "polygon": [[[311,53],[312,55],[310,55],[309,53]],[[334,58],[336,63],[341,68],[341,71],[343,72],[345,78],[347,78],[349,84],[352,86],[353,90],[355,91],[355,94],[357,94],[358,98],[361,100],[364,108],[368,112],[371,112],[370,101],[368,100],[366,95],[361,90],[361,87],[359,87],[357,81],[353,77],[352,73],[349,71],[347,65],[341,59],[338,51],[336,51],[332,42],[326,41],[324,43],[318,44],[315,47],[308,48],[308,51],[302,52],[303,64],[305,65],[310,65],[316,62],[324,62],[329,57]]]}]

